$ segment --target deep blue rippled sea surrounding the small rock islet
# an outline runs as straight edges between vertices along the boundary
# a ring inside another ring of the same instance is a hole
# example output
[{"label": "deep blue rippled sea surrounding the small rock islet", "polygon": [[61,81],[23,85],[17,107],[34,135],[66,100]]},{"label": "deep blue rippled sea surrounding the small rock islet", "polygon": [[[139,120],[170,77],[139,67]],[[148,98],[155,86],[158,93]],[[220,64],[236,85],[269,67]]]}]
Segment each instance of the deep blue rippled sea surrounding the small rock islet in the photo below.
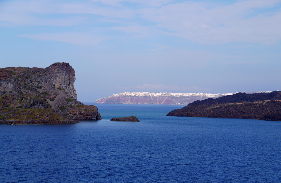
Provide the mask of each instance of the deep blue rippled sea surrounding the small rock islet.
[{"label": "deep blue rippled sea surrounding the small rock islet", "polygon": [[[0,125],[0,182],[281,182],[281,122],[97,104],[103,120]],[[113,122],[135,115],[141,122]]]}]

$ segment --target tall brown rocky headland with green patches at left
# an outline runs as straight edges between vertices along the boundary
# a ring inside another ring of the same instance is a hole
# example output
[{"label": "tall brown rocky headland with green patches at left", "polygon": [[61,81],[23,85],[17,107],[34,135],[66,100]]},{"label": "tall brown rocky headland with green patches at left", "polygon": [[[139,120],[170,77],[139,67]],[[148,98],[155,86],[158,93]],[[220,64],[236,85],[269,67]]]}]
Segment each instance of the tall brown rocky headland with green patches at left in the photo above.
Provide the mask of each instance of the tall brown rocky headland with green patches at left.
[{"label": "tall brown rocky headland with green patches at left", "polygon": [[45,69],[1,68],[1,123],[75,123],[78,119],[101,119],[96,106],[77,101],[74,81],[74,69],[64,62]]}]

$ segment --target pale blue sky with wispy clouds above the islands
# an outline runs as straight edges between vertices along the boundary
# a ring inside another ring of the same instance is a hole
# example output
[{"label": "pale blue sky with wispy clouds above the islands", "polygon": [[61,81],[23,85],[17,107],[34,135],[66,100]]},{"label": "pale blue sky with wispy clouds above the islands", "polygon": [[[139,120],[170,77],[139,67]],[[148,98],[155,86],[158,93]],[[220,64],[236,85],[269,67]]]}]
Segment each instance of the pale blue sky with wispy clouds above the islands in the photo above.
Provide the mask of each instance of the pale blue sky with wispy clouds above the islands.
[{"label": "pale blue sky with wispy clouds above the islands", "polygon": [[0,0],[0,68],[75,70],[77,100],[281,90],[281,0]]}]

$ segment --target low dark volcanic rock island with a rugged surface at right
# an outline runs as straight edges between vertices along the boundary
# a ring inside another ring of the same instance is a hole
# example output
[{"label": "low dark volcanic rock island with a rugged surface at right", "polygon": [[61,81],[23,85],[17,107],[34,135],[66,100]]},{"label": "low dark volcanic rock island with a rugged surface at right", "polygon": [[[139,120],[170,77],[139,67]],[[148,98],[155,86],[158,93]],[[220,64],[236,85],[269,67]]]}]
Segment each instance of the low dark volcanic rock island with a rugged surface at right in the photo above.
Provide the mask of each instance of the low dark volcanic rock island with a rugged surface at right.
[{"label": "low dark volcanic rock island with a rugged surface at right", "polygon": [[167,116],[210,118],[254,118],[281,121],[281,92],[237,93],[216,99],[195,101]]}]

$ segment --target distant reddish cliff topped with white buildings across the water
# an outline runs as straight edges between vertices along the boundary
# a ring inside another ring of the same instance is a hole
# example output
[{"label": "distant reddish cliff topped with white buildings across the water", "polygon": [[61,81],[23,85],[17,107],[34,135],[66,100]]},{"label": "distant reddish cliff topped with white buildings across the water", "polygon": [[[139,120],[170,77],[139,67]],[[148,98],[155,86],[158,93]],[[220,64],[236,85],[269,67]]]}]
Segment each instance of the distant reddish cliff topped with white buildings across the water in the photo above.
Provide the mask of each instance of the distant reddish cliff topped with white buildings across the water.
[{"label": "distant reddish cliff topped with white buildings across the water", "polygon": [[221,96],[231,95],[226,94],[206,94],[206,93],[149,93],[149,92],[135,92],[135,93],[120,93],[113,94],[109,97],[96,100],[95,103],[100,104],[182,104],[187,105],[196,100],[203,100],[207,98],[217,98]]}]

